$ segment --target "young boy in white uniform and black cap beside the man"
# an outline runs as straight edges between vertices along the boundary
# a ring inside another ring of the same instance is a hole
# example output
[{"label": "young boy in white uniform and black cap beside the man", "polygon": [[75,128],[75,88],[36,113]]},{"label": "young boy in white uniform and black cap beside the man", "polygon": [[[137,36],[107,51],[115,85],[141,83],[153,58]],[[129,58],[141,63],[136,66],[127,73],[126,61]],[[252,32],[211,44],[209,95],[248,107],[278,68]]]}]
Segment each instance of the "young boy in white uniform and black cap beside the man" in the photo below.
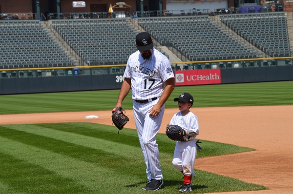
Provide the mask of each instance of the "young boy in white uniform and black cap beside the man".
[{"label": "young boy in white uniform and black cap beside the man", "polygon": [[174,98],[178,102],[179,112],[170,121],[170,125],[178,125],[186,131],[183,141],[177,141],[172,164],[184,175],[180,193],[191,191],[192,178],[195,176],[193,166],[196,157],[195,137],[199,134],[198,119],[189,109],[193,105],[193,97],[189,93],[182,93]]}]

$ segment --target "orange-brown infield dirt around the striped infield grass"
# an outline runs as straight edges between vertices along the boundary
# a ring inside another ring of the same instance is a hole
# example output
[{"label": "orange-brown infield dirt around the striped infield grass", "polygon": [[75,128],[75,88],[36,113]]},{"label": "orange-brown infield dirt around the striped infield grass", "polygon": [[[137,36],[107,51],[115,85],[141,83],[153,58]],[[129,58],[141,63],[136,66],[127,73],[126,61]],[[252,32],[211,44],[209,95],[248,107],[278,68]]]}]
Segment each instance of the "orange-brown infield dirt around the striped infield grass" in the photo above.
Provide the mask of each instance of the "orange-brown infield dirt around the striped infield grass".
[{"label": "orange-brown infield dirt around the striped infield grass", "polygon": [[[191,108],[199,118],[199,139],[251,147],[256,151],[199,158],[195,168],[269,188],[229,194],[293,194],[293,106]],[[160,133],[178,109],[166,109]],[[135,129],[132,110],[126,128]],[[99,118],[85,119],[96,115]],[[93,122],[111,125],[110,111],[0,115],[0,124]],[[120,133],[123,133],[121,131]],[[217,193],[219,194],[219,193]]]}]

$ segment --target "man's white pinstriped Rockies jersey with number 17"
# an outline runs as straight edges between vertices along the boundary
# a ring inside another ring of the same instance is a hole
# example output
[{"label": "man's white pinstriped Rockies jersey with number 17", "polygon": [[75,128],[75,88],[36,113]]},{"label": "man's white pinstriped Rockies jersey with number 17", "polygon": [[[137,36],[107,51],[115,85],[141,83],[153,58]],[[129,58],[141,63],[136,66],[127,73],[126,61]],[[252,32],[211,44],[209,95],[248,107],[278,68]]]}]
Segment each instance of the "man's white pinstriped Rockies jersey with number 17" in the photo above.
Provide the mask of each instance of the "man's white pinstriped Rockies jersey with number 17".
[{"label": "man's white pinstriped Rockies jersey with number 17", "polygon": [[174,78],[169,59],[153,48],[150,58],[144,59],[139,51],[128,58],[124,77],[131,78],[132,99],[146,100],[161,97],[165,81]]}]

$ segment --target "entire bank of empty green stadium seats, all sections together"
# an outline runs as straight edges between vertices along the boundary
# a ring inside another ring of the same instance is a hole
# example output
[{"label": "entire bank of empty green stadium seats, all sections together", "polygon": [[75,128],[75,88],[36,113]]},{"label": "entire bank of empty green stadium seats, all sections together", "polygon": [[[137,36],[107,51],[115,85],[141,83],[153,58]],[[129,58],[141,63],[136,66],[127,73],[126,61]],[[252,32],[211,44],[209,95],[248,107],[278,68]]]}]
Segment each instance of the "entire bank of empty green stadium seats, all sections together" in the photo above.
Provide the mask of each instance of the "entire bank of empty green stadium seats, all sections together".
[{"label": "entire bank of empty green stadium seats, all sections together", "polygon": [[[194,10],[190,11],[189,16],[187,12],[184,16],[140,17],[137,18],[137,22],[156,41],[175,49],[176,53],[190,61],[261,56],[258,51],[231,35],[211,17],[195,14]],[[88,13],[74,14],[74,16],[89,17]],[[74,59],[42,26],[41,21],[28,19],[28,14],[21,14],[22,17],[26,19],[0,20],[2,32],[0,68],[76,65]],[[100,18],[99,15],[96,15],[96,19],[73,19],[73,16],[71,19],[64,19],[63,14],[53,14],[51,17],[55,19],[48,22],[52,23],[83,61],[88,61],[90,65],[126,64],[129,55],[137,51],[135,36],[138,31],[128,19]],[[271,57],[292,56],[285,13],[223,14],[219,15],[219,18],[233,31]],[[263,33],[259,33],[260,31]],[[292,64],[289,60],[285,62]],[[257,63],[247,64],[248,67],[261,66]],[[267,61],[263,66],[266,65],[277,64],[275,61]],[[241,65],[219,63],[210,64],[209,67],[200,64],[197,68],[209,69],[215,66],[243,67],[242,63]],[[188,66],[183,66],[183,69],[186,68],[190,69]]]}]

